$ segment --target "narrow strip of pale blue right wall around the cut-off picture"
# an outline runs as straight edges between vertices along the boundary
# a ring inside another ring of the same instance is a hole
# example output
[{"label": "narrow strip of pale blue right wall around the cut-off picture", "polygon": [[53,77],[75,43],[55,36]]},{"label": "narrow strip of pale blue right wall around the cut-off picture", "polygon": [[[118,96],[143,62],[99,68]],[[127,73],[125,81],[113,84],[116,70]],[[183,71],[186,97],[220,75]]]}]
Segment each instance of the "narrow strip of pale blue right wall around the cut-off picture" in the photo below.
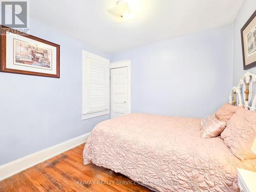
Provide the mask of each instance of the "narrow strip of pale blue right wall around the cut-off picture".
[{"label": "narrow strip of pale blue right wall around the cut-off picture", "polygon": [[[256,9],[255,0],[245,0],[242,8],[240,9],[236,20],[233,23],[233,84],[237,86],[241,77],[246,73],[243,70],[243,54],[241,42],[241,28],[250,18]],[[247,71],[256,73],[256,67]]]}]

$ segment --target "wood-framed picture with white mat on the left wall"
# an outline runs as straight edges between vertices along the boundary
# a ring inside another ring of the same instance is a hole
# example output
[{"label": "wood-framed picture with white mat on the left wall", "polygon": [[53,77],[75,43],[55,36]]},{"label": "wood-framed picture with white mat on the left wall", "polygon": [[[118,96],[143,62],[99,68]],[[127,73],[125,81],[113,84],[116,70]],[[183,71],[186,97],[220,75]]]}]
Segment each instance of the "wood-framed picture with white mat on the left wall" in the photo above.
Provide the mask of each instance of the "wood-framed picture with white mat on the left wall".
[{"label": "wood-framed picture with white mat on the left wall", "polygon": [[1,72],[59,78],[59,45],[0,27]]}]

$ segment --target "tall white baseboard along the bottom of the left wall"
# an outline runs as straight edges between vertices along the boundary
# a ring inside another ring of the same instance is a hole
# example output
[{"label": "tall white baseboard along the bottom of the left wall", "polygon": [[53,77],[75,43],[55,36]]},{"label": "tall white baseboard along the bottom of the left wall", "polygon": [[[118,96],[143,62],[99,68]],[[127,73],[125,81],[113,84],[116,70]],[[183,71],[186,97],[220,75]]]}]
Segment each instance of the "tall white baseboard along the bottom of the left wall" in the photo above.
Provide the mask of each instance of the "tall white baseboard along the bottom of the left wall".
[{"label": "tall white baseboard along the bottom of the left wall", "polygon": [[86,142],[90,133],[91,132],[1,165],[0,181]]}]

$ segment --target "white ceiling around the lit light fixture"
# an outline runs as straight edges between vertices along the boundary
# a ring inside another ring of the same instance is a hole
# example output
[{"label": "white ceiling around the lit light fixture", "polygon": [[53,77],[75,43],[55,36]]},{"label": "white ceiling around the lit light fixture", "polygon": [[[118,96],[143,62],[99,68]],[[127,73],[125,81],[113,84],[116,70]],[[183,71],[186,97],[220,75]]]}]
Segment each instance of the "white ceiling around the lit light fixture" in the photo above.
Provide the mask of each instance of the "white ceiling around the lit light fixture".
[{"label": "white ceiling around the lit light fixture", "polygon": [[126,0],[134,18],[118,23],[117,0],[30,1],[30,17],[107,53],[232,23],[244,0]]}]

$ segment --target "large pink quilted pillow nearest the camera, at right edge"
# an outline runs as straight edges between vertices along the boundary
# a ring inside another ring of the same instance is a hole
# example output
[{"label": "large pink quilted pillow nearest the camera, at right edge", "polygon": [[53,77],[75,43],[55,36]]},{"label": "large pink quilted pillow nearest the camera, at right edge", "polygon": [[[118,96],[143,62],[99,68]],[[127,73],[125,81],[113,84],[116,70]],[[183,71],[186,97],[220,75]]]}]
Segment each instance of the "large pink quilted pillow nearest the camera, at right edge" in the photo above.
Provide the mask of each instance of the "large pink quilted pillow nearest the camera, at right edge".
[{"label": "large pink quilted pillow nearest the camera, at right edge", "polygon": [[241,160],[255,159],[250,150],[256,137],[256,112],[240,108],[227,122],[221,138],[232,154]]}]

